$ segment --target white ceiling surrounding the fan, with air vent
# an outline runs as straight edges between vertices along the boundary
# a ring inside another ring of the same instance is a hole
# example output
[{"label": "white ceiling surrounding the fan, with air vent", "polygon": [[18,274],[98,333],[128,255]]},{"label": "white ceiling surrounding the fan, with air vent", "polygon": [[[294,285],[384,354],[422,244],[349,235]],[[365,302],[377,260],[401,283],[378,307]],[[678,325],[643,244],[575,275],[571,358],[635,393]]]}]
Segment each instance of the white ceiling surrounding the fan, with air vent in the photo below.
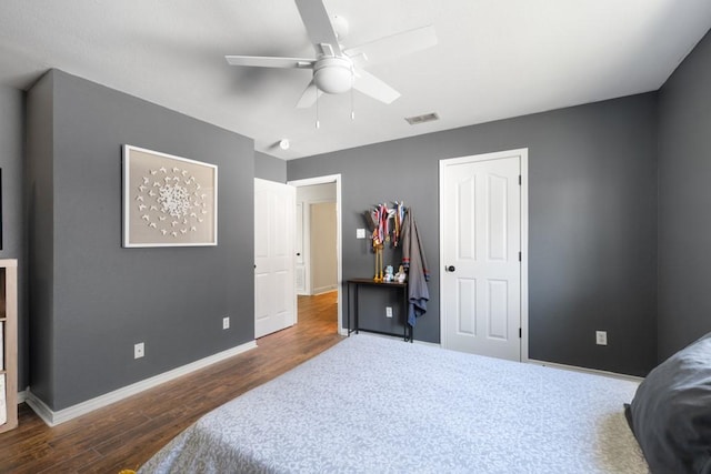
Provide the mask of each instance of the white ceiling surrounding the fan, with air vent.
[{"label": "white ceiling surrounding the fan, with air vent", "polygon": [[[313,57],[293,0],[2,0],[0,84],[49,68],[254,139],[294,159],[660,88],[711,27],[709,0],[324,0],[346,47],[433,24],[439,44],[367,68],[402,94],[296,109],[308,70],[226,54]],[[409,125],[403,118],[437,112]],[[277,142],[287,138],[291,148]]]}]

